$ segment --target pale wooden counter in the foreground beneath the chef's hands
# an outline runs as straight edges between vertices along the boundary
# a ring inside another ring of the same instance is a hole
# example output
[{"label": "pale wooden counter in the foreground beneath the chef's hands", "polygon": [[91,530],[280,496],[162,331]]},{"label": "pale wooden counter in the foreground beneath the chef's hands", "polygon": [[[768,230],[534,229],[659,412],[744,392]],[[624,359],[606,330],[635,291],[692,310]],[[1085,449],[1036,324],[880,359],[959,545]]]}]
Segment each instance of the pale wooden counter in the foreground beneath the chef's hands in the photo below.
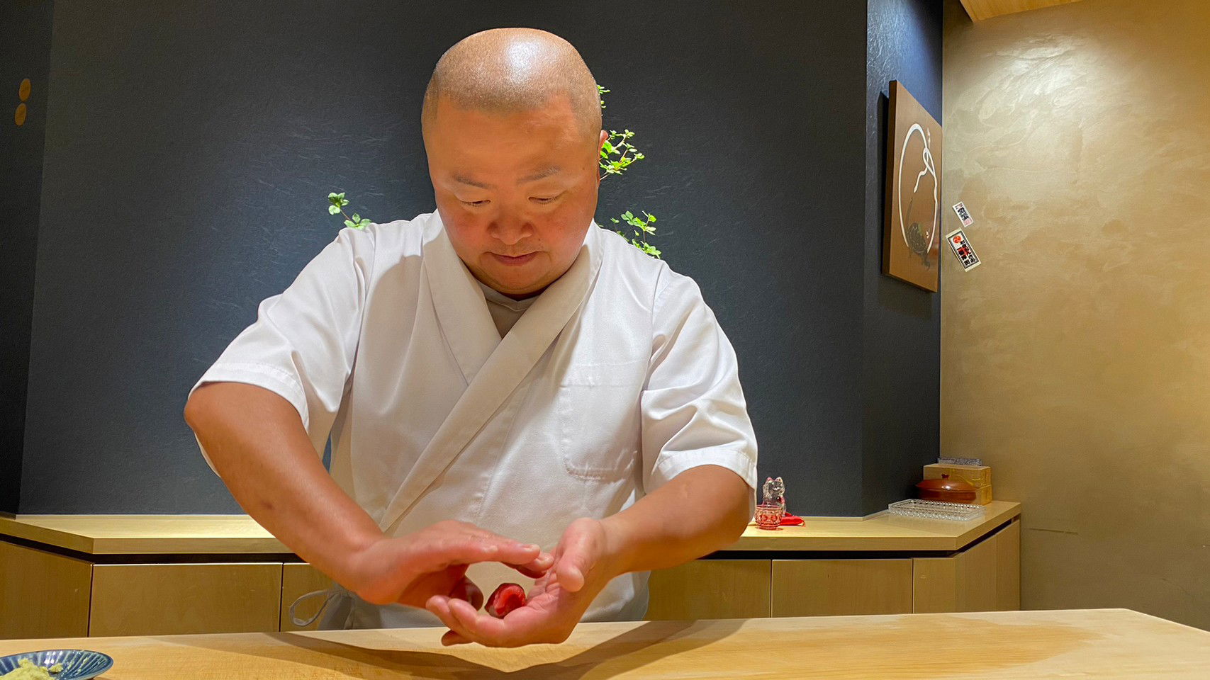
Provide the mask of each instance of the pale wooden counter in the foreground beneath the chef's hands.
[{"label": "pale wooden counter in the foreground beneath the chef's hands", "polygon": [[442,647],[436,628],[0,641],[174,678],[1105,680],[1206,678],[1210,633],[1128,610],[584,623],[561,645]]}]

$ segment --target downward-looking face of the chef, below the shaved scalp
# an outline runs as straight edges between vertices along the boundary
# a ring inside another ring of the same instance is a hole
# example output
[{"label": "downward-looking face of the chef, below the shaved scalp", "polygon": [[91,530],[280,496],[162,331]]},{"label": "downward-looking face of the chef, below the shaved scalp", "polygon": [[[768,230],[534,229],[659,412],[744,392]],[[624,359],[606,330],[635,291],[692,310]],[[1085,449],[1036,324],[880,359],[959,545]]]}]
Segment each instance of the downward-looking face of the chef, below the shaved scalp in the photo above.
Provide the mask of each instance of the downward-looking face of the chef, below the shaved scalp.
[{"label": "downward-looking face of the chef, below the shaved scalp", "polygon": [[491,114],[442,97],[425,131],[437,211],[476,278],[513,298],[543,290],[580,252],[597,209],[598,160],[566,97]]}]

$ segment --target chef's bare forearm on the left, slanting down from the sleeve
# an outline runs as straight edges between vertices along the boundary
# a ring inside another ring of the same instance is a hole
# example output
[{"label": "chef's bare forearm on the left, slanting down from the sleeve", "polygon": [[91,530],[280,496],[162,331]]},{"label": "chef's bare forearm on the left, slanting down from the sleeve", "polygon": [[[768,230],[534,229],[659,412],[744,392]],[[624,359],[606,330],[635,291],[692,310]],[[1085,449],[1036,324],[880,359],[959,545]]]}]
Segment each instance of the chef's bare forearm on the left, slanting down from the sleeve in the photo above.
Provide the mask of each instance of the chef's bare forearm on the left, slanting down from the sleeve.
[{"label": "chef's bare forearm on the left, slanting down from the sleeve", "polygon": [[382,537],[324,469],[298,411],[280,394],[206,384],[186,404],[185,420],[244,512],[338,582],[345,558]]}]

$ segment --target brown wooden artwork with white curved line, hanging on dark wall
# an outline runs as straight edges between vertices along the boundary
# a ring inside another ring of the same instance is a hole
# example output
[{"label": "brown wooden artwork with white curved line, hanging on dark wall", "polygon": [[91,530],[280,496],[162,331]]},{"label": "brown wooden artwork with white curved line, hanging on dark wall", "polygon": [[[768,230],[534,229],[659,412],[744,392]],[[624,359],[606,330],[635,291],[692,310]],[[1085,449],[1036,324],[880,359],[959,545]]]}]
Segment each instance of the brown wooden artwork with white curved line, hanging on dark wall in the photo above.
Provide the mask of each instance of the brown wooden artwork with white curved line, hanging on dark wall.
[{"label": "brown wooden artwork with white curved line, hanging on dark wall", "polygon": [[882,273],[937,293],[941,271],[941,126],[891,81]]}]

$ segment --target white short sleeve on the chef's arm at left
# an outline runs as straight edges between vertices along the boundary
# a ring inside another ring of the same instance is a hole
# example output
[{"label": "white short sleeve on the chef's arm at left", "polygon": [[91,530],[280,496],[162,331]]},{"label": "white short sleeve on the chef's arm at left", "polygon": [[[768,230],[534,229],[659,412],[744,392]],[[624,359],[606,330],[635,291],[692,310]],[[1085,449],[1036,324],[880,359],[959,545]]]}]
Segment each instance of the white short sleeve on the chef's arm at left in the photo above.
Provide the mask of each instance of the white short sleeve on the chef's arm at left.
[{"label": "white short sleeve on the chef's arm at left", "polygon": [[[299,411],[322,456],[353,370],[374,265],[373,227],[341,229],[286,290],[264,299],[257,321],[236,335],[189,394],[218,381],[276,392]],[[214,469],[206,448],[200,440],[197,445]]]}]

